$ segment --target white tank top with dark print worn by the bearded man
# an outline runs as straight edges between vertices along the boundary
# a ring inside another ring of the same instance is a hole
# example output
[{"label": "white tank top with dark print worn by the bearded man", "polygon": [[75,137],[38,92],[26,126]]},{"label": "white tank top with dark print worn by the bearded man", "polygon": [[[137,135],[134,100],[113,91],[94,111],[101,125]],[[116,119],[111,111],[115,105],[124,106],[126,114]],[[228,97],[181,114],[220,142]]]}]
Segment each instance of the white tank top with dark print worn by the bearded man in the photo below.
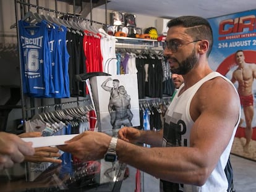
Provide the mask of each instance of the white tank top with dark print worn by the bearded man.
[{"label": "white tank top with dark print worn by the bearded man", "polygon": [[[188,90],[184,91],[181,95],[179,95],[179,91],[184,86],[181,85],[181,88],[175,94],[173,101],[168,107],[168,111],[166,111],[166,115],[164,116],[164,133],[163,133],[163,146],[171,147],[171,146],[190,146],[190,131],[192,126],[194,125],[194,121],[191,119],[189,114],[190,102],[194,97],[197,90],[200,86],[205,83],[205,81],[211,80],[215,77],[222,77],[224,80],[228,81],[233,87],[233,83],[228,80],[228,78],[224,77],[218,72],[211,72],[202,80],[198,81]],[[236,88],[234,87],[234,90]],[[238,93],[237,93],[238,95]],[[187,101],[187,102],[184,102]],[[179,185],[179,190],[181,191],[227,191],[228,189],[228,180],[226,178],[224,168],[226,163],[228,162],[229,153],[231,151],[231,146],[233,144],[234,135],[236,133],[236,129],[238,126],[238,122],[234,128],[233,136],[228,143],[226,149],[224,149],[223,154],[218,161],[215,169],[211,173],[210,177],[207,179],[207,182],[203,186],[194,186],[194,185]]]}]

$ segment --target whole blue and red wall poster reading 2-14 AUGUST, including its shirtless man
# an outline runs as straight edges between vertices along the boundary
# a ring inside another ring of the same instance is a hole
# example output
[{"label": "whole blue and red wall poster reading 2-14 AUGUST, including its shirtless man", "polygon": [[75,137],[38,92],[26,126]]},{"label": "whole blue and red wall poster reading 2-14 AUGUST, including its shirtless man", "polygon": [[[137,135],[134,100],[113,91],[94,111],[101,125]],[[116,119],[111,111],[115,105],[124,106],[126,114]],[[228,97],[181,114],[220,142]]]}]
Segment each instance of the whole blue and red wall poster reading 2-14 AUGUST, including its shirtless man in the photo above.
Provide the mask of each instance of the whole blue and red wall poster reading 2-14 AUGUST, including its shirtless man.
[{"label": "whole blue and red wall poster reading 2-14 AUGUST, including its shirtless man", "polygon": [[241,99],[241,119],[231,152],[256,161],[256,10],[208,21],[214,41],[210,67],[234,83]]}]

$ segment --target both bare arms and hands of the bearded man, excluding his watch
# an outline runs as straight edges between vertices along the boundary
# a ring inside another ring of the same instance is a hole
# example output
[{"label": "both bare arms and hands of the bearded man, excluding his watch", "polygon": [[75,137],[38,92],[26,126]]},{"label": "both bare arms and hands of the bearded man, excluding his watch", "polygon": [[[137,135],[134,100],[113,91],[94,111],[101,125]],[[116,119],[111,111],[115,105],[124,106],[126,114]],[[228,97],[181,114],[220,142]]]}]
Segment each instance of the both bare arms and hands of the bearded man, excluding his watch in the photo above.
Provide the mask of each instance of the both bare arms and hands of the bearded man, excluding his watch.
[{"label": "both bare arms and hands of the bearded man, excluding his watch", "polygon": [[[190,131],[189,147],[143,148],[132,143],[150,144],[151,141],[161,141],[160,137],[155,139],[152,131],[146,133],[124,127],[119,130],[123,140],[117,140],[118,159],[169,182],[202,186],[231,140],[239,112],[236,90],[223,78],[214,78],[203,83],[190,104],[195,123]],[[86,131],[59,148],[72,152],[83,161],[101,159],[110,140],[111,136]]]}]

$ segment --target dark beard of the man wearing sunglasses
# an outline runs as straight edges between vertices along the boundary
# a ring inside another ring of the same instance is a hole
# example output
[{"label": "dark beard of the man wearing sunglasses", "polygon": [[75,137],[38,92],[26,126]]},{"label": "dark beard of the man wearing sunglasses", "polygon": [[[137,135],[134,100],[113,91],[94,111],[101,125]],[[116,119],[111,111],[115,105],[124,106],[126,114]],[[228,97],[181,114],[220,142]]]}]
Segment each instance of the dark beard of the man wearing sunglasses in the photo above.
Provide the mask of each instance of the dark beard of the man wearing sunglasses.
[{"label": "dark beard of the man wearing sunglasses", "polygon": [[195,49],[193,49],[192,53],[190,54],[187,59],[185,59],[182,62],[176,62],[178,63],[179,67],[177,68],[171,68],[172,73],[176,73],[178,75],[186,75],[188,72],[190,72],[191,69],[195,66],[197,63],[198,59],[197,56],[195,55]]}]

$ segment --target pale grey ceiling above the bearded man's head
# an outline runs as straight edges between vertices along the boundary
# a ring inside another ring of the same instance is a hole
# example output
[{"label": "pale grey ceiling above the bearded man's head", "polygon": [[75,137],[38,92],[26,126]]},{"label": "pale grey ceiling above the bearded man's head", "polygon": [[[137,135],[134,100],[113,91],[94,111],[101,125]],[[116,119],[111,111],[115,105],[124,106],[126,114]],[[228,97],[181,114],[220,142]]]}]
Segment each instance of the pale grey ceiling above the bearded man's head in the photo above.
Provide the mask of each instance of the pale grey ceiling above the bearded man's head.
[{"label": "pale grey ceiling above the bearded man's head", "polygon": [[[105,5],[98,8],[105,9]],[[197,15],[209,19],[256,9],[255,0],[110,0],[108,10],[171,19]]]}]

